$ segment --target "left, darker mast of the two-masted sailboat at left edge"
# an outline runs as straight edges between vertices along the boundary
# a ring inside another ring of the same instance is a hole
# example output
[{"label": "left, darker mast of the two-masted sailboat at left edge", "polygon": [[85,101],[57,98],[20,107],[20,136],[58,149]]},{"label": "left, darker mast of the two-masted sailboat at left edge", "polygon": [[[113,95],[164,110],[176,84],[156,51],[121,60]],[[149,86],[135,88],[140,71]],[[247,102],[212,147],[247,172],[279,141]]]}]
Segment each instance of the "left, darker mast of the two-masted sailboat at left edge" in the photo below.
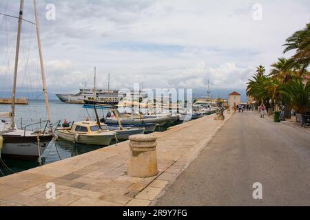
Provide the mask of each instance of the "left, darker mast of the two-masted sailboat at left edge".
[{"label": "left, darker mast of the two-masted sailboat at left edge", "polygon": [[12,94],[12,110],[11,110],[11,129],[15,128],[14,116],[15,116],[15,101],[16,101],[16,85],[17,85],[17,70],[19,67],[19,45],[21,42],[21,22],[23,21],[23,0],[21,0],[19,6],[19,25],[17,30],[17,44],[15,54],[15,66],[14,66],[14,81],[13,81],[13,94]]}]

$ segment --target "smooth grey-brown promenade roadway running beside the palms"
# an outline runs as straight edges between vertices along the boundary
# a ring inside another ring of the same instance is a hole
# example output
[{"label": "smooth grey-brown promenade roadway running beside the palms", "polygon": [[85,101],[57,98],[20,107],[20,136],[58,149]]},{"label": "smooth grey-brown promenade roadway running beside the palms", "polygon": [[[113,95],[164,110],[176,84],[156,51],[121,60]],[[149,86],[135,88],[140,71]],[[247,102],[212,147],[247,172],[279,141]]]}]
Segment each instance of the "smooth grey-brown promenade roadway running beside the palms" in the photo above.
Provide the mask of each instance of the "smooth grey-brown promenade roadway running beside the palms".
[{"label": "smooth grey-brown promenade roadway running beside the palms", "polygon": [[236,113],[156,205],[310,206],[310,134]]}]

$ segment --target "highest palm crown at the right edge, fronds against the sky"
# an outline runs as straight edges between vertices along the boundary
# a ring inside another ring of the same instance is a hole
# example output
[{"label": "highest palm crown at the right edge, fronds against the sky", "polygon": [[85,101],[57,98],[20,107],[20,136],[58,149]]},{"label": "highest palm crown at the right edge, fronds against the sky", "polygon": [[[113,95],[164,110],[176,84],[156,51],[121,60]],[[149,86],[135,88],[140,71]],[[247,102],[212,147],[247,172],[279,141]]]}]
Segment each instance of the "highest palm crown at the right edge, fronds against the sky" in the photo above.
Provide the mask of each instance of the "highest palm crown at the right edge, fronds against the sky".
[{"label": "highest palm crown at the right edge, fronds against the sky", "polygon": [[296,54],[292,57],[294,63],[299,65],[302,73],[307,69],[310,63],[310,23],[307,23],[306,28],[298,30],[287,39],[283,53],[291,50],[296,50]]}]

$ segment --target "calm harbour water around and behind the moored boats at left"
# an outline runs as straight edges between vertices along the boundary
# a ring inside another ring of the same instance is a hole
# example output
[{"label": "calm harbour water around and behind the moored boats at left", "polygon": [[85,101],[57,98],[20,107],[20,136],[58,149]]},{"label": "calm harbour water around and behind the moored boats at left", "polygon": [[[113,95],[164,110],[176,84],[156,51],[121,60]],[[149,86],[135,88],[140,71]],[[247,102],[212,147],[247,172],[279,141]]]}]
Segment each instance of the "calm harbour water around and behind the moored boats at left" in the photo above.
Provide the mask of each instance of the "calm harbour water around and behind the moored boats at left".
[{"label": "calm harbour water around and behind the moored boats at left", "polygon": [[[58,100],[50,100],[50,110],[52,113],[52,122],[57,122],[61,120],[63,122],[66,119],[68,122],[76,122],[85,120],[88,115],[90,115],[91,120],[94,120],[94,113],[91,109],[88,113],[83,109],[82,104],[65,104]],[[1,105],[0,112],[9,112],[10,105]],[[99,112],[101,117],[105,112]],[[16,106],[16,124],[19,128],[21,126],[25,127],[28,124],[34,124],[40,120],[46,120],[47,114],[45,111],[45,102],[43,100],[30,100],[28,105],[17,105]],[[102,117],[101,117],[102,118]],[[28,128],[37,129],[39,125],[29,126]],[[158,128],[158,131],[165,131],[166,128]],[[114,143],[112,143],[114,144]],[[57,147],[56,147],[57,146]],[[85,144],[73,144],[72,142],[66,142],[62,140],[57,140],[55,144],[50,144],[48,148],[43,153],[43,164],[50,164],[52,162],[58,161],[60,158],[65,159],[69,157],[74,157],[83,153],[94,151],[103,146],[92,146]],[[23,170],[28,170],[39,166],[37,162],[22,162],[14,160],[4,160],[6,165],[14,172],[20,172]],[[12,172],[0,165],[0,169],[5,175],[10,175]],[[1,173],[0,173],[1,177]]]}]

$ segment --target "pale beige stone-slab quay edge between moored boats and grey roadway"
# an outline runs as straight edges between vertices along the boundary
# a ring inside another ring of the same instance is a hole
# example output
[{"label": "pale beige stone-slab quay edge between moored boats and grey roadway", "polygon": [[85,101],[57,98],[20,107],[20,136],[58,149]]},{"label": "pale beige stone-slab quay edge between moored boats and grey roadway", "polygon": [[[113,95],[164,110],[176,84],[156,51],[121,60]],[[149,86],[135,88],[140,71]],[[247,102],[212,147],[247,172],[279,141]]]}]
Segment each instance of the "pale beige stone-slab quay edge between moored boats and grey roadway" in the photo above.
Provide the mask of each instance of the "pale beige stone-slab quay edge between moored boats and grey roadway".
[{"label": "pale beige stone-slab quay edge between moored boats and grey roadway", "polygon": [[[159,173],[127,176],[128,142],[0,178],[0,206],[149,206],[185,170],[225,121],[214,115],[179,124],[158,137]],[[56,198],[46,199],[54,183]]]}]

